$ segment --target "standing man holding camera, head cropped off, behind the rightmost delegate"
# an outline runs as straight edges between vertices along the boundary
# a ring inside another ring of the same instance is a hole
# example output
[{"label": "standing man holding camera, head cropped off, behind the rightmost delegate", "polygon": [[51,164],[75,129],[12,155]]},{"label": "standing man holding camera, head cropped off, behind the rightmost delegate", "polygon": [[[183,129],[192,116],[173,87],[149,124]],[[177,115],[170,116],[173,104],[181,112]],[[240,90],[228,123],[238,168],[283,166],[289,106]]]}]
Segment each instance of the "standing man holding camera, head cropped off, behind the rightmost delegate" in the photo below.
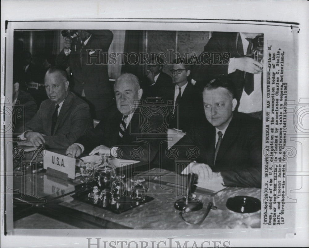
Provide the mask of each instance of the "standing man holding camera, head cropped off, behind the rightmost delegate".
[{"label": "standing man holding camera, head cropped off, behind the rightmost delegate", "polygon": [[236,89],[236,109],[261,119],[263,50],[259,58],[252,58],[252,48],[263,49],[262,34],[213,32],[192,74],[200,89],[214,78],[228,76]]}]

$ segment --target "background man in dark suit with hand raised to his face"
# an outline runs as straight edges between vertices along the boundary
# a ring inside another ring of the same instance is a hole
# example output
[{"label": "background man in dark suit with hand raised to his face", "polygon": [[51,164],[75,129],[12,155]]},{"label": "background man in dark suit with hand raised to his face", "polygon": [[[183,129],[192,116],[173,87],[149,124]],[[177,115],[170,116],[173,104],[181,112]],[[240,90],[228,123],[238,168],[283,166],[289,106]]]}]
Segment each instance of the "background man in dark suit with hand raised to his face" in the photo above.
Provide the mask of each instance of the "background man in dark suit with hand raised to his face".
[{"label": "background man in dark suit with hand raised to his face", "polygon": [[154,56],[147,64],[146,76],[142,80],[143,98],[162,97],[162,93],[172,85],[172,78],[162,72],[164,61]]}]

